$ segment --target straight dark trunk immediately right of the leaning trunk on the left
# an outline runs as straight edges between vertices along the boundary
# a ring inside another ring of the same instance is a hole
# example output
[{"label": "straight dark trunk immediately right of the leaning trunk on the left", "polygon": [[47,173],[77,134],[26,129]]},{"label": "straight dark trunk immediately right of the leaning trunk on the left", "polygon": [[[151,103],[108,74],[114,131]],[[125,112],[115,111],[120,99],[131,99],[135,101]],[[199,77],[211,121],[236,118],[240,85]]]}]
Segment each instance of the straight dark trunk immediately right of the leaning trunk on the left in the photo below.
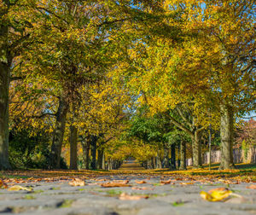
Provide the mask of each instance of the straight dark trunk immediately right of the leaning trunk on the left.
[{"label": "straight dark trunk immediately right of the leaning trunk on the left", "polygon": [[78,169],[78,128],[70,126],[70,166],[69,169]]}]

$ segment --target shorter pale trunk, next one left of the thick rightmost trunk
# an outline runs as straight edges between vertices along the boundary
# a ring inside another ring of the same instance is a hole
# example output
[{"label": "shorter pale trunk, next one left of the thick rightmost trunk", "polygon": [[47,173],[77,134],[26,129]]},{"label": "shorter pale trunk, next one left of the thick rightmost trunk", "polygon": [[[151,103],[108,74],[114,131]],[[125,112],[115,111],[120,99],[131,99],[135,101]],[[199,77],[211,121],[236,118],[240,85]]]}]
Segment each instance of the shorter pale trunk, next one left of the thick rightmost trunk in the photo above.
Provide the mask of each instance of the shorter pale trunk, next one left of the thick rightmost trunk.
[{"label": "shorter pale trunk, next one left of the thick rightmost trunk", "polygon": [[193,150],[193,166],[201,168],[201,132],[195,131],[194,137],[192,138],[192,150]]}]

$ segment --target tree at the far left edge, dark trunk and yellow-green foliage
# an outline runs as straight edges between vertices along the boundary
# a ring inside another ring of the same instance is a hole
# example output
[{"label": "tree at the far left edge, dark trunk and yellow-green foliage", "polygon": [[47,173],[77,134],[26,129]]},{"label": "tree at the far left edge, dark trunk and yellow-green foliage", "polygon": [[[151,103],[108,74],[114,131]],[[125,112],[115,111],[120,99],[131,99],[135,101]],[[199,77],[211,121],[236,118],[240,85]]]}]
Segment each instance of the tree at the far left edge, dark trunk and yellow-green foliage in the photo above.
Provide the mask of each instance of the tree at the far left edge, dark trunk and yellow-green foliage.
[{"label": "tree at the far left edge, dark trunk and yellow-green foliage", "polygon": [[0,169],[9,169],[9,84],[15,57],[31,43],[36,1],[0,2]]}]

